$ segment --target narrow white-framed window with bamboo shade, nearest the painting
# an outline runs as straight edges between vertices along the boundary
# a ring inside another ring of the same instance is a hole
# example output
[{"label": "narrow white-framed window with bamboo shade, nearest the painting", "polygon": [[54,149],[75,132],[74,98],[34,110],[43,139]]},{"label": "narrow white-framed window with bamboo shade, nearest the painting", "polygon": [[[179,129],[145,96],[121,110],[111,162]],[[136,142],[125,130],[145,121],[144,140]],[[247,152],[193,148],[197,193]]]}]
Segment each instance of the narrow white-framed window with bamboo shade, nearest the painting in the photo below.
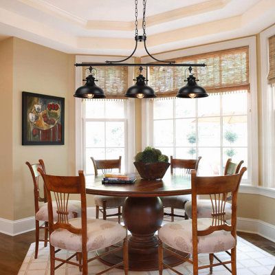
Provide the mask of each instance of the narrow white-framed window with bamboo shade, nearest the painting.
[{"label": "narrow white-framed window with bamboo shade, nearest the painting", "polygon": [[[120,59],[115,56],[76,56],[76,63],[104,63],[106,60]],[[133,61],[132,58],[130,62]],[[96,84],[102,87],[107,98],[75,99],[76,175],[78,170],[84,170],[86,175],[94,174],[91,157],[118,159],[120,155],[122,172],[131,173],[135,155],[135,100],[126,99],[124,92],[129,83],[132,84],[133,68],[98,66],[96,70]],[[76,89],[83,85],[87,74],[87,67],[76,69]]]}]

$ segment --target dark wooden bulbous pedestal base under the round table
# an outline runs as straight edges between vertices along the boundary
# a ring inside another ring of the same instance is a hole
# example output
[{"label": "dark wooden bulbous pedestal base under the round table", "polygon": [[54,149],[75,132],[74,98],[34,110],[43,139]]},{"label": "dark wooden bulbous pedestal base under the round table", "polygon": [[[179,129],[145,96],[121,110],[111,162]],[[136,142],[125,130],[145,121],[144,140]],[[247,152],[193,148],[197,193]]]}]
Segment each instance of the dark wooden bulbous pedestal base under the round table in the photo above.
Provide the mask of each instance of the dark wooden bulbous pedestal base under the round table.
[{"label": "dark wooden bulbous pedestal base under the round table", "polygon": [[[162,225],[163,206],[159,197],[127,197],[123,205],[123,221],[131,232],[129,237],[129,270],[158,270],[158,240],[155,232]],[[112,248],[110,248],[112,249]],[[107,250],[98,250],[103,254]],[[184,257],[189,255],[176,251]],[[100,261],[106,265],[115,265],[122,261],[122,252],[101,256]],[[183,263],[168,252],[164,252],[164,263],[170,266]],[[123,268],[123,267],[121,267]]]}]

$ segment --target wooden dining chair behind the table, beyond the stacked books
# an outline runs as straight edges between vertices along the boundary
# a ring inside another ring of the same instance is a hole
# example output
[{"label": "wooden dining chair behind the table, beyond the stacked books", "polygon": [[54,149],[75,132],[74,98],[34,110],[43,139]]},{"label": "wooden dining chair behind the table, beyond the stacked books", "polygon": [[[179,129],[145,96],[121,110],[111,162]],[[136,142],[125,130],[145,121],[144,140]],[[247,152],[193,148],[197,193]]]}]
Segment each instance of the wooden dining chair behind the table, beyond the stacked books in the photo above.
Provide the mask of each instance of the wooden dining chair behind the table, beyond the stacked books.
[{"label": "wooden dining chair behind the table, beyond the stacked books", "polygon": [[[103,174],[112,173],[113,169],[118,169],[118,173],[121,173],[121,156],[118,159],[94,159],[91,157],[91,161],[94,164],[95,175],[98,175],[98,170],[102,170]],[[96,219],[99,219],[99,213],[102,213],[103,219],[107,217],[118,216],[118,223],[120,223],[122,216],[122,204],[125,197],[113,197],[113,196],[94,196],[96,204]],[[108,209],[118,208],[118,212],[115,214],[107,214]]]}]

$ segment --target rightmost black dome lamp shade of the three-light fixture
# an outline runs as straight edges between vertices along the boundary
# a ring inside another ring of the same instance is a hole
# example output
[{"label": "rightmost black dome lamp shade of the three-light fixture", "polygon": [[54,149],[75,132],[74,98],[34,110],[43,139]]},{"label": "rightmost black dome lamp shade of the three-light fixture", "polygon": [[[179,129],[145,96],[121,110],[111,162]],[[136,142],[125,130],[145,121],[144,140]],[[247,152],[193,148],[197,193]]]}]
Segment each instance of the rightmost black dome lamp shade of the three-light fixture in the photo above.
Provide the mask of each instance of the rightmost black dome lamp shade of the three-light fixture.
[{"label": "rightmost black dome lamp shade of the three-light fixture", "polygon": [[[203,87],[197,85],[196,78],[191,74],[192,67],[189,67],[190,75],[188,76],[187,84],[181,87],[177,92],[177,98],[205,98],[208,96],[206,90]],[[199,80],[197,80],[199,81]]]}]

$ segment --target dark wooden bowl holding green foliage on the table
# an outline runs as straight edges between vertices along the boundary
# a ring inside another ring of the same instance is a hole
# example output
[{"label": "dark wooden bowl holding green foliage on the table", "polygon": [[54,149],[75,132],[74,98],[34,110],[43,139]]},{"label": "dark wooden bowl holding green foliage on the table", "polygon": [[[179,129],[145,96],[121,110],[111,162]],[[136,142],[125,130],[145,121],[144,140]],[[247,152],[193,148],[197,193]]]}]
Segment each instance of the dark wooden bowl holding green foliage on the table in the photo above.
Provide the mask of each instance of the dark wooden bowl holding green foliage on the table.
[{"label": "dark wooden bowl holding green foliage on the table", "polygon": [[170,166],[168,162],[134,162],[137,172],[142,179],[162,179]]}]

